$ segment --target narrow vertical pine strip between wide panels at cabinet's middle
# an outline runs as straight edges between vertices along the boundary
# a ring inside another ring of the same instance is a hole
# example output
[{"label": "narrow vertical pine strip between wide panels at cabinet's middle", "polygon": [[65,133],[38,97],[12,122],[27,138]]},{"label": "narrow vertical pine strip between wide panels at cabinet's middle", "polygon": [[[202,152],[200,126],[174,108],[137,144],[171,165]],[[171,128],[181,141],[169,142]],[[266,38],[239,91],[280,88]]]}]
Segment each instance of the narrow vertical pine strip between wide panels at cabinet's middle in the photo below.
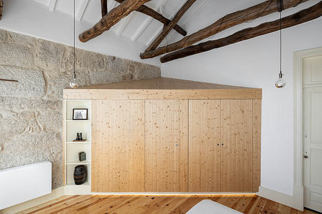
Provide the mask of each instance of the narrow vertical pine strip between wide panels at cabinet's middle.
[{"label": "narrow vertical pine strip between wide panels at cabinet's middle", "polygon": [[188,100],[179,100],[179,192],[188,192],[188,113]]}]

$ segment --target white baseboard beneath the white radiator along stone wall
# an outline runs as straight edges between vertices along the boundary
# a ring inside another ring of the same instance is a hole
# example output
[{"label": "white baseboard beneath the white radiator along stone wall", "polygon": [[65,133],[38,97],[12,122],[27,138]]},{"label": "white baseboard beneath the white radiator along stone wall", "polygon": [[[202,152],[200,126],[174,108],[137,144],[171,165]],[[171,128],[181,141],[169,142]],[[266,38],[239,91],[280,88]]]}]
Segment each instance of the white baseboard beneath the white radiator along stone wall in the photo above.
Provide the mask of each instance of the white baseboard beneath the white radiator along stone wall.
[{"label": "white baseboard beneath the white radiator along stone wall", "polygon": [[1,214],[11,214],[11,213],[18,213],[24,210],[27,210],[29,208],[32,208],[34,206],[37,206],[39,204],[43,204],[47,201],[57,199],[58,197],[62,197],[64,195],[64,187],[58,187],[55,190],[52,190],[50,194],[46,194],[43,197],[38,197],[36,199],[32,199],[30,201],[26,201],[22,204],[17,204],[15,206],[10,206],[8,208],[5,208],[0,211]]}]

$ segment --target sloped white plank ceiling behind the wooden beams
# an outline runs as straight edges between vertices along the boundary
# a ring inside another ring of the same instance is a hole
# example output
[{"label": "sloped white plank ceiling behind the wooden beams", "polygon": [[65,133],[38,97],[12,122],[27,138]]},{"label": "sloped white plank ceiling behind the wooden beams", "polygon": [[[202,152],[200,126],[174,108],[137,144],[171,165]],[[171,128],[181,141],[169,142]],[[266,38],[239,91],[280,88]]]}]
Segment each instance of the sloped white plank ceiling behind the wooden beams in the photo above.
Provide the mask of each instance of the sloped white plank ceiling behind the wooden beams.
[{"label": "sloped white plank ceiling behind the wooden beams", "polygon": [[[59,10],[63,13],[73,16],[73,0],[34,0],[43,4],[50,11]],[[186,12],[179,25],[185,29],[190,19],[195,17],[197,13],[204,7],[207,0],[197,0],[191,8]],[[146,3],[146,6],[162,13],[170,20],[176,12],[186,3],[186,0],[153,0]],[[108,8],[118,6],[119,3],[108,0]],[[99,0],[76,0],[76,20],[85,21],[91,24],[97,23],[101,19],[101,1]],[[124,36],[130,41],[149,45],[155,36],[162,30],[163,24],[158,20],[154,20],[148,15],[139,12],[132,12],[127,17],[120,20],[118,24],[112,27],[111,31],[117,36]],[[172,31],[172,34],[178,34]],[[167,41],[165,41],[167,42]]]}]

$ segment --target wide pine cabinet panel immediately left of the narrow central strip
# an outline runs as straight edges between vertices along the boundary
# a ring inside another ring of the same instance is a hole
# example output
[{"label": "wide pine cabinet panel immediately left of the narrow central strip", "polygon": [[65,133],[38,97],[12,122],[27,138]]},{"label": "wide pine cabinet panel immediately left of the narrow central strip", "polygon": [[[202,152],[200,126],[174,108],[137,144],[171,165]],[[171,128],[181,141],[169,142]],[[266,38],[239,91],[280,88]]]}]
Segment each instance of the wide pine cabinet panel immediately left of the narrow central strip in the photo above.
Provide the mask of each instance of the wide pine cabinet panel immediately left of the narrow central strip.
[{"label": "wide pine cabinet panel immediately left of the narrow central strip", "polygon": [[179,101],[145,101],[145,191],[179,192]]}]

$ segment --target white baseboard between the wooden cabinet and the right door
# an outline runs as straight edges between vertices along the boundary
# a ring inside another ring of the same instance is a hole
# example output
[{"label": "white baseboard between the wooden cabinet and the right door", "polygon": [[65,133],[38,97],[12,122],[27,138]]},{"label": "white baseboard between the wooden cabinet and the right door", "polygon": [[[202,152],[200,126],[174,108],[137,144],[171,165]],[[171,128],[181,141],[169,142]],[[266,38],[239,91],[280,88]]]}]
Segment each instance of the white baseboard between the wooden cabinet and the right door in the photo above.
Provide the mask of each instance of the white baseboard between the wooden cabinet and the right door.
[{"label": "white baseboard between the wooden cabinet and the right door", "polygon": [[284,204],[299,211],[303,211],[303,187],[294,186],[293,195],[288,195],[260,186],[259,192],[257,194],[260,197],[264,197],[266,199],[276,201],[279,204]]}]

